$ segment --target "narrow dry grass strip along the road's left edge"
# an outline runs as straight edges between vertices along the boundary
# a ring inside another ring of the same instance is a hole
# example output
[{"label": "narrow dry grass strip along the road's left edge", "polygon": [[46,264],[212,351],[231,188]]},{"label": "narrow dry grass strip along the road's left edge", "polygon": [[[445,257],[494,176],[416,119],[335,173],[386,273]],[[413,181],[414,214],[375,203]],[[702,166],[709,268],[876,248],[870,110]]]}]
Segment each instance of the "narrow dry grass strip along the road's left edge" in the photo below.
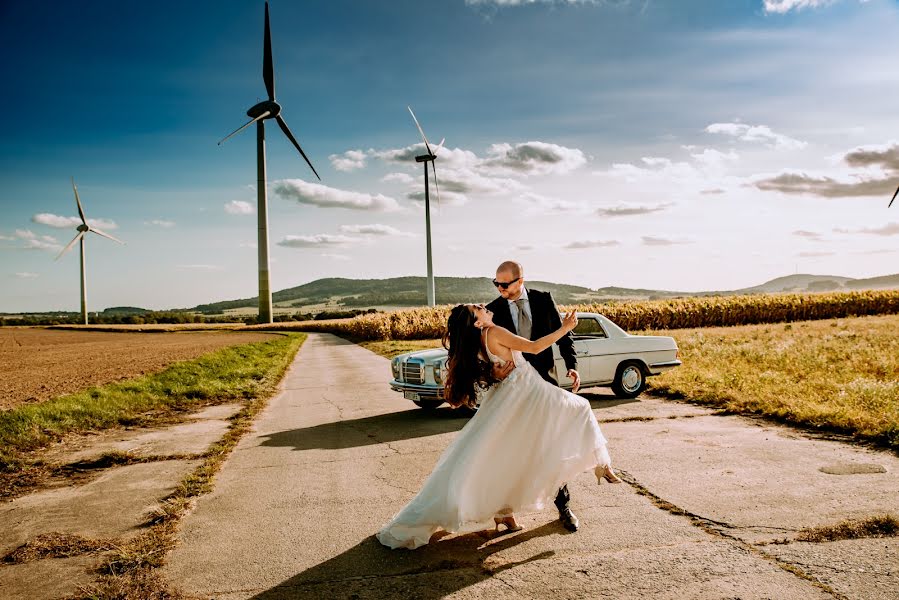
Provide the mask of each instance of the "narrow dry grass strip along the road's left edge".
[{"label": "narrow dry grass strip along the road's left edge", "polygon": [[[272,373],[274,384],[280,381],[296,351],[306,339],[305,334],[291,336],[292,351],[278,363]],[[267,342],[266,342],[267,343]],[[250,430],[256,415],[268,403],[275,385],[265,393],[249,399],[233,417],[225,435],[203,454],[203,464],[185,477],[178,488],[163,499],[150,515],[148,528],[141,535],[108,553],[100,566],[100,577],[91,586],[80,590],[75,598],[85,600],[176,600],[183,594],[173,589],[157,569],[177,543],[181,519],[190,512],[199,496],[212,490],[215,475],[240,439]]]}]

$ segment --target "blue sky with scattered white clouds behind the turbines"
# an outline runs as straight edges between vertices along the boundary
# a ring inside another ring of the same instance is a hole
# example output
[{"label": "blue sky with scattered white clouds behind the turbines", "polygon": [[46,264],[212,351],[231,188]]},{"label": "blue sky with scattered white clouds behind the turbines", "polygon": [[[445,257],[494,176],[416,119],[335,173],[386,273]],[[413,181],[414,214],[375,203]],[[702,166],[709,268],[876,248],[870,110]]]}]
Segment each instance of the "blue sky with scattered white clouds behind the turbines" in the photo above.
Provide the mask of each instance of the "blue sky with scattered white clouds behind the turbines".
[{"label": "blue sky with scattered white clouds behind the turbines", "polygon": [[[263,3],[0,5],[0,311],[256,293]],[[267,127],[274,289],[435,272],[733,289],[899,272],[899,3],[271,3],[277,96],[322,175]],[[438,301],[440,299],[438,298]]]}]

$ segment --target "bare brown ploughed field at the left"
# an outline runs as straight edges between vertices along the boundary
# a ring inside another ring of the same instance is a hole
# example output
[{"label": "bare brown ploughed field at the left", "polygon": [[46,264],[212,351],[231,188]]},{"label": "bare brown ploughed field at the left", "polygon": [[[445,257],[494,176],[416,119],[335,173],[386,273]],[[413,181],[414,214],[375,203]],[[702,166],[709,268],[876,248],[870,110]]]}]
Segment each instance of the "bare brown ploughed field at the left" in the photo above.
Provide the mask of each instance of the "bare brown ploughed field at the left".
[{"label": "bare brown ploughed field at the left", "polygon": [[154,373],[173,362],[274,335],[0,328],[0,410]]}]

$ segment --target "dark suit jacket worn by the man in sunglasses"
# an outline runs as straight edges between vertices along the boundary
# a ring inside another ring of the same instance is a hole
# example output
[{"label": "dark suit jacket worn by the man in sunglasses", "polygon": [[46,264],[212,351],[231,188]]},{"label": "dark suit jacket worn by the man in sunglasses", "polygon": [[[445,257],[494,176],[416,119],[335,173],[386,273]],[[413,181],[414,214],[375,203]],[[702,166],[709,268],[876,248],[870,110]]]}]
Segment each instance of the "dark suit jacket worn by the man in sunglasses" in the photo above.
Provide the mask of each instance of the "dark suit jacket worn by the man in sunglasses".
[{"label": "dark suit jacket worn by the man in sunglasses", "polygon": [[[531,306],[532,340],[540,339],[562,326],[562,319],[559,317],[559,311],[551,293],[528,288],[528,303]],[[493,322],[495,324],[505,327],[513,333],[518,333],[515,330],[515,323],[512,321],[512,311],[509,309],[508,300],[500,296],[488,304],[487,308],[493,312]],[[565,366],[569,369],[577,369],[577,355],[574,351],[574,342],[571,339],[571,335],[566,335],[556,343],[559,345],[559,352],[562,358],[565,360]],[[553,368],[552,346],[540,354],[525,354],[524,357],[529,363],[534,365],[541,377],[551,381],[549,372]]]}]

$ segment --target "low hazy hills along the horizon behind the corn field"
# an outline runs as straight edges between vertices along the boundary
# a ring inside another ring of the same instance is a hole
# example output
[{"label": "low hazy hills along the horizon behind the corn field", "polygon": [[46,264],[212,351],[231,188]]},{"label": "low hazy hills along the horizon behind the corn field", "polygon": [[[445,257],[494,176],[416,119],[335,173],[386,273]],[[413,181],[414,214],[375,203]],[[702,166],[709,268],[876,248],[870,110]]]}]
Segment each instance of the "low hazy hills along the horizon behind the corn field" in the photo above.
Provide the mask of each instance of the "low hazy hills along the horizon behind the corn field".
[{"label": "low hazy hills along the horizon behind the corn field", "polygon": [[[753,287],[739,290],[718,290],[705,292],[677,292],[670,290],[650,290],[623,287],[590,288],[528,281],[528,285],[552,292],[559,304],[579,304],[602,302],[613,299],[675,298],[685,296],[707,296],[712,294],[763,294],[780,292],[824,292],[850,291],[862,289],[899,288],[899,274],[853,279],[837,275],[796,274],[778,277]],[[441,304],[457,302],[487,302],[496,297],[496,288],[487,277],[437,277],[435,279],[437,301]],[[344,306],[346,308],[367,308],[373,306],[424,306],[427,303],[424,277],[394,277],[390,279],[346,279],[330,277],[272,294],[272,301],[282,309],[313,306]],[[193,309],[204,314],[221,314],[226,310],[255,308],[256,297],[226,300],[200,304]],[[108,309],[112,310],[112,309]],[[115,309],[124,310],[124,309]],[[141,309],[133,309],[141,310]]]}]

